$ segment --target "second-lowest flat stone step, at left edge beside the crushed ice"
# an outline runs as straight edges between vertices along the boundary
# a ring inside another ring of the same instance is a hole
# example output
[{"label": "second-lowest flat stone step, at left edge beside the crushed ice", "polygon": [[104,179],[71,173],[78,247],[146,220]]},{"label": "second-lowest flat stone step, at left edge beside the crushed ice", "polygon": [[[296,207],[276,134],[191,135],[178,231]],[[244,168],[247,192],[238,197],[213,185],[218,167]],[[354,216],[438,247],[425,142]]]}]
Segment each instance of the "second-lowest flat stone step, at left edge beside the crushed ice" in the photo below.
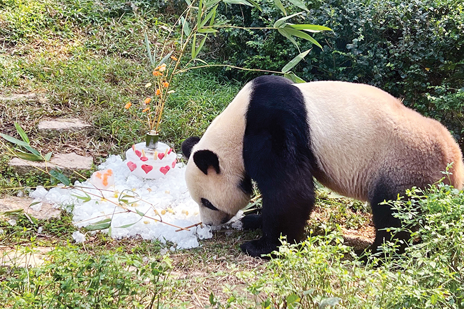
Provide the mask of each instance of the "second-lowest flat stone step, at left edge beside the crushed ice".
[{"label": "second-lowest flat stone step, at left edge beside the crushed ice", "polygon": [[[53,208],[52,204],[42,202],[42,206],[40,210],[36,211],[29,207],[32,202],[34,201],[33,198],[29,197],[16,197],[6,195],[0,199],[0,213],[4,211],[11,211],[11,210],[18,210],[23,209],[25,213],[29,216],[34,217],[38,220],[47,220],[50,218],[59,218],[60,217],[60,210]],[[8,218],[9,216],[3,215],[3,217]]]}]

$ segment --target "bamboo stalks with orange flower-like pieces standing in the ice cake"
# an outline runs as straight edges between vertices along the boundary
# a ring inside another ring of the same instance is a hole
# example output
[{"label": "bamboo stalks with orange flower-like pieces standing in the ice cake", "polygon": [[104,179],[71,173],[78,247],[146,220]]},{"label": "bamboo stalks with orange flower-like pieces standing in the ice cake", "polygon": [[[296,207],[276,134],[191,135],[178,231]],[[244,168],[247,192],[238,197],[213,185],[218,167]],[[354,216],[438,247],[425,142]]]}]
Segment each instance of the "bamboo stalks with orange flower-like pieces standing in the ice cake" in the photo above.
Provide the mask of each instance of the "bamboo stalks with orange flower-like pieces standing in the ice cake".
[{"label": "bamboo stalks with orange flower-like pieces standing in the ice cake", "polygon": [[[172,24],[163,25],[163,27],[158,27],[154,29],[156,31],[156,37],[158,38],[158,44],[162,44],[162,48],[159,54],[157,54],[158,45],[154,52],[151,52],[151,43],[148,40],[148,36],[145,33],[145,47],[150,60],[150,64],[154,68],[152,71],[154,82],[147,83],[146,88],[154,87],[153,95],[147,97],[140,109],[138,110],[138,115],[134,108],[132,108],[132,103],[125,104],[124,108],[132,112],[132,114],[138,118],[139,121],[146,124],[148,127],[148,132],[151,135],[158,135],[160,132],[160,125],[162,123],[162,114],[166,101],[169,98],[169,95],[174,92],[170,90],[170,85],[173,77],[176,74],[186,72],[187,70],[201,67],[210,67],[210,66],[226,66],[235,69],[245,69],[245,70],[254,70],[259,72],[273,73],[284,75],[285,77],[291,79],[293,82],[304,82],[302,79],[298,78],[295,74],[291,72],[291,69],[297,65],[308,53],[310,50],[301,52],[294,59],[292,59],[288,64],[286,64],[280,72],[263,70],[263,69],[249,69],[241,68],[233,65],[227,64],[208,64],[202,59],[198,59],[200,51],[205,46],[205,42],[211,35],[216,35],[219,28],[239,28],[239,29],[253,29],[253,30],[268,30],[274,29],[277,30],[285,38],[288,38],[292,43],[298,47],[297,41],[293,38],[301,38],[311,43],[319,46],[322,46],[310,35],[312,32],[320,31],[330,31],[330,28],[303,24],[295,25],[294,23],[289,22],[290,18],[303,18],[303,11],[288,15],[284,7],[279,1],[276,1],[276,6],[282,11],[285,15],[284,17],[276,20],[273,27],[261,27],[261,28],[245,28],[245,27],[236,27],[227,25],[226,20],[217,20],[216,19],[216,9],[220,4],[225,5],[246,5],[256,7],[258,10],[262,11],[259,5],[254,1],[246,0],[186,0],[187,7],[184,12],[179,16],[179,18]],[[293,2],[292,2],[293,3]],[[307,11],[307,8],[304,4],[298,2],[296,5],[299,9]],[[161,45],[160,44],[160,45]],[[168,53],[168,50],[171,46],[178,46],[175,49],[176,55],[173,56],[173,52]],[[298,47],[299,50],[299,47]],[[191,51],[191,53],[187,53]],[[188,55],[188,56],[187,56]],[[189,58],[182,61],[183,67],[180,67],[181,60],[183,58]],[[158,62],[159,61],[159,62]],[[198,65],[197,65],[198,64]],[[140,115],[140,116],[139,116]],[[147,139],[148,147],[148,139]]]}]

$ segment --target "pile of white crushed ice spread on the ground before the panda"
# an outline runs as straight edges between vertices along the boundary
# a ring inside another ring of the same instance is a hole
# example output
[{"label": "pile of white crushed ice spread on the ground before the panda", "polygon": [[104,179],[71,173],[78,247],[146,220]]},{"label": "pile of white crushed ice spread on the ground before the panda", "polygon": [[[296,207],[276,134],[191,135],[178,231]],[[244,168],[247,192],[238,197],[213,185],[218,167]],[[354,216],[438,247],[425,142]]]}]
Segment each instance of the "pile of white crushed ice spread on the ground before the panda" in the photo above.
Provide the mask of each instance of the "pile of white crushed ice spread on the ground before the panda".
[{"label": "pile of white crushed ice spread on the ground before the panda", "polygon": [[[162,243],[169,241],[175,244],[176,249],[195,248],[198,247],[198,239],[212,237],[214,227],[205,225],[179,231],[180,227],[201,222],[198,205],[187,190],[183,163],[177,163],[165,177],[157,180],[129,175],[129,169],[120,156],[110,156],[98,168],[113,171],[114,187],[100,190],[90,180],[76,182],[71,188],[60,185],[50,191],[38,187],[30,193],[37,202],[32,207],[38,210],[42,201],[48,202],[72,211],[77,227],[102,229],[117,239],[140,235]],[[228,224],[232,228],[240,228],[238,219],[241,216],[240,211]],[[76,242],[85,240],[79,231],[73,234],[73,238]]]}]

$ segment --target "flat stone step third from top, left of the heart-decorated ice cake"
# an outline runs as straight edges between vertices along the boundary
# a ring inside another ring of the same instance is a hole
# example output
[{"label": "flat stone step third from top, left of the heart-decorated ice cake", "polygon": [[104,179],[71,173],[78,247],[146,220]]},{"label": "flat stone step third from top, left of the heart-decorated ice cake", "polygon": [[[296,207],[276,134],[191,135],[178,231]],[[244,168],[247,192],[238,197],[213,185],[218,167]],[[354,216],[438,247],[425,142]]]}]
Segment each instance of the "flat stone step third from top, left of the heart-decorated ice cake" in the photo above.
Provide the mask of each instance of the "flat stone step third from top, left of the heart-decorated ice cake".
[{"label": "flat stone step third from top, left of the heart-decorated ice cake", "polygon": [[46,168],[60,168],[65,175],[76,176],[73,171],[89,171],[92,169],[93,158],[84,157],[75,153],[54,154],[52,159],[47,162],[26,161],[19,158],[12,158],[8,165],[20,175],[30,172],[40,173],[38,169],[45,170]]}]

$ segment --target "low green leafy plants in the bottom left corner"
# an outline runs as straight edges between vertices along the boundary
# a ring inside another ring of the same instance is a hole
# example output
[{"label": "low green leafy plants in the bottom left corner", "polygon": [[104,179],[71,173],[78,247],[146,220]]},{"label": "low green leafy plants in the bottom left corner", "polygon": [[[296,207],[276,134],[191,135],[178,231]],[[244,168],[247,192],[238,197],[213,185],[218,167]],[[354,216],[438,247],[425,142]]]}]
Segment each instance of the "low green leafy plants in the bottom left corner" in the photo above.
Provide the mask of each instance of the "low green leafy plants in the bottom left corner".
[{"label": "low green leafy plants in the bottom left corner", "polygon": [[[175,281],[166,280],[170,269],[167,256],[146,263],[139,255],[57,248],[44,265],[19,268],[2,280],[0,304],[30,309],[159,308],[175,300]],[[161,297],[167,300],[161,302]]]}]

